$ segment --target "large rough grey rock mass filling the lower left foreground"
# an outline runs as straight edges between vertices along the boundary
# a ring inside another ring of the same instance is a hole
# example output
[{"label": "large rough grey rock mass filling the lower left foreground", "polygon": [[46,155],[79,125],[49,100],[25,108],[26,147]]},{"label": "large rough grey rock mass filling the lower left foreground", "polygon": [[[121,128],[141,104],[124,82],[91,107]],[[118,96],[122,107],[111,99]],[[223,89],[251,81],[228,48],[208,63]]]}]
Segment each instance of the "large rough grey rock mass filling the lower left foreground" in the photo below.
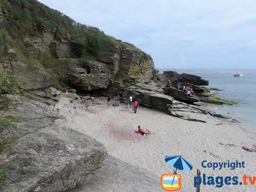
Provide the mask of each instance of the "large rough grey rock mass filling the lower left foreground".
[{"label": "large rough grey rock mass filling the lower left foreground", "polygon": [[107,151],[91,137],[53,120],[58,113],[47,105],[12,96],[15,103],[6,115],[22,118],[16,129],[5,129],[0,141],[1,165],[8,175],[0,191],[61,192],[87,183],[105,159]]}]

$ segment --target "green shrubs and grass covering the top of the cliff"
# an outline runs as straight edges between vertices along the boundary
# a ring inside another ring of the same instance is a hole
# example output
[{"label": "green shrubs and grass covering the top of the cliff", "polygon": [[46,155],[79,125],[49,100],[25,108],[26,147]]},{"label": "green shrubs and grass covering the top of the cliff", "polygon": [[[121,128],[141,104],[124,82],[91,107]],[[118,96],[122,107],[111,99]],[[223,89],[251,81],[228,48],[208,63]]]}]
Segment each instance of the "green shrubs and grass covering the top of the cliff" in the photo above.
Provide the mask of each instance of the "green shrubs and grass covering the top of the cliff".
[{"label": "green shrubs and grass covering the top of the cliff", "polygon": [[18,60],[29,65],[41,66],[42,64],[55,71],[65,66],[59,59],[54,60],[47,54],[40,54],[38,57],[29,55],[27,47],[31,45],[24,44],[23,38],[39,36],[35,25],[49,26],[56,31],[69,33],[71,38],[83,40],[85,48],[81,57],[87,61],[96,61],[101,47],[116,45],[113,38],[105,35],[98,28],[77,23],[67,15],[50,9],[37,0],[1,0],[0,9],[9,10],[3,17],[3,29],[0,28],[0,51],[2,45],[9,42],[8,37],[10,37],[12,38],[11,46],[16,51]]}]

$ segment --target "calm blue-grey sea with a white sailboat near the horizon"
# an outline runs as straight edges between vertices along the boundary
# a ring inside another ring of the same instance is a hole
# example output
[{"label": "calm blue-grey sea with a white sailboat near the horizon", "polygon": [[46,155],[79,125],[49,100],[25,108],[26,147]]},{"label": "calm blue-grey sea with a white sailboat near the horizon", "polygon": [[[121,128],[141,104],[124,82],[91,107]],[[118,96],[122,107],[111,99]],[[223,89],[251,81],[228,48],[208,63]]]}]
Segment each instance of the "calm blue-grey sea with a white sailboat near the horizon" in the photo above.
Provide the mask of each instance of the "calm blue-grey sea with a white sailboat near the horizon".
[{"label": "calm blue-grey sea with a white sailboat near the horizon", "polygon": [[206,105],[211,111],[231,116],[247,127],[256,130],[256,69],[239,69],[244,76],[233,77],[236,69],[158,69],[177,73],[189,73],[209,80],[206,87],[215,87],[221,91],[214,94],[223,99],[238,102],[236,105]]}]

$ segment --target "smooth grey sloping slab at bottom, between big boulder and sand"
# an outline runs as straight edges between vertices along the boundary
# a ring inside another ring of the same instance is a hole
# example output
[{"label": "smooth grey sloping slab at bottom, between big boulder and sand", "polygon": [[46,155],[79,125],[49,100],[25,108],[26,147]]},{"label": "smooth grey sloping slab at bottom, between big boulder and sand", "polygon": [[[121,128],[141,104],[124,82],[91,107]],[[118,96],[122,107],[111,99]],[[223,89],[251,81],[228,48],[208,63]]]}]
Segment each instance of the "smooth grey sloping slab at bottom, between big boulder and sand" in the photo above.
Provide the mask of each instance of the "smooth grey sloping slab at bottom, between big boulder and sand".
[{"label": "smooth grey sloping slab at bottom, between big boulder and sand", "polygon": [[108,155],[89,183],[66,192],[157,192],[162,190],[159,176],[146,171],[141,166],[133,166]]}]

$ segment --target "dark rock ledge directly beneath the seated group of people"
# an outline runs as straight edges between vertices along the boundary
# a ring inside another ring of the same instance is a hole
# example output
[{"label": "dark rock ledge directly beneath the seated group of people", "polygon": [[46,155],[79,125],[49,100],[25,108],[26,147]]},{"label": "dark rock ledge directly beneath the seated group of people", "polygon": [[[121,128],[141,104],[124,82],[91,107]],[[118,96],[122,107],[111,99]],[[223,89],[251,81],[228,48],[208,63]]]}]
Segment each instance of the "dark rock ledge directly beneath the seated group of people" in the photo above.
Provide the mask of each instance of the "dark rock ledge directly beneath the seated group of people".
[{"label": "dark rock ledge directly beneath the seated group of people", "polygon": [[178,90],[174,87],[162,87],[165,95],[172,96],[175,100],[185,103],[199,102],[200,99],[195,97],[189,97],[186,92]]}]

